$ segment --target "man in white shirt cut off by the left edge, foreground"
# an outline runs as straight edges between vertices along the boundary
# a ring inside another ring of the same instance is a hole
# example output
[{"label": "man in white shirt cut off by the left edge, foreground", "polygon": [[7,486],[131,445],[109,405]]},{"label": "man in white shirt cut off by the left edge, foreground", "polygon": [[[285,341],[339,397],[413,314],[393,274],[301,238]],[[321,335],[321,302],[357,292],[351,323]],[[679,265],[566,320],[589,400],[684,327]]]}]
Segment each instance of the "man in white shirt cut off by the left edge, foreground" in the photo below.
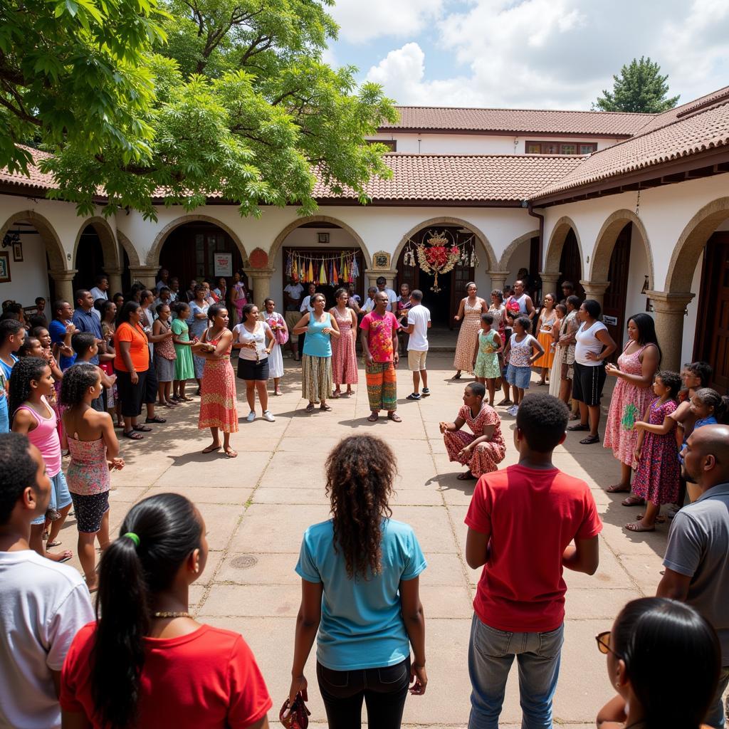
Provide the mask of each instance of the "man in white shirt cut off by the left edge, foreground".
[{"label": "man in white shirt cut off by the left edge, foreground", "polygon": [[19,433],[0,434],[0,727],[61,727],[63,660],[94,620],[79,572],[28,545],[51,488],[38,448]]}]

